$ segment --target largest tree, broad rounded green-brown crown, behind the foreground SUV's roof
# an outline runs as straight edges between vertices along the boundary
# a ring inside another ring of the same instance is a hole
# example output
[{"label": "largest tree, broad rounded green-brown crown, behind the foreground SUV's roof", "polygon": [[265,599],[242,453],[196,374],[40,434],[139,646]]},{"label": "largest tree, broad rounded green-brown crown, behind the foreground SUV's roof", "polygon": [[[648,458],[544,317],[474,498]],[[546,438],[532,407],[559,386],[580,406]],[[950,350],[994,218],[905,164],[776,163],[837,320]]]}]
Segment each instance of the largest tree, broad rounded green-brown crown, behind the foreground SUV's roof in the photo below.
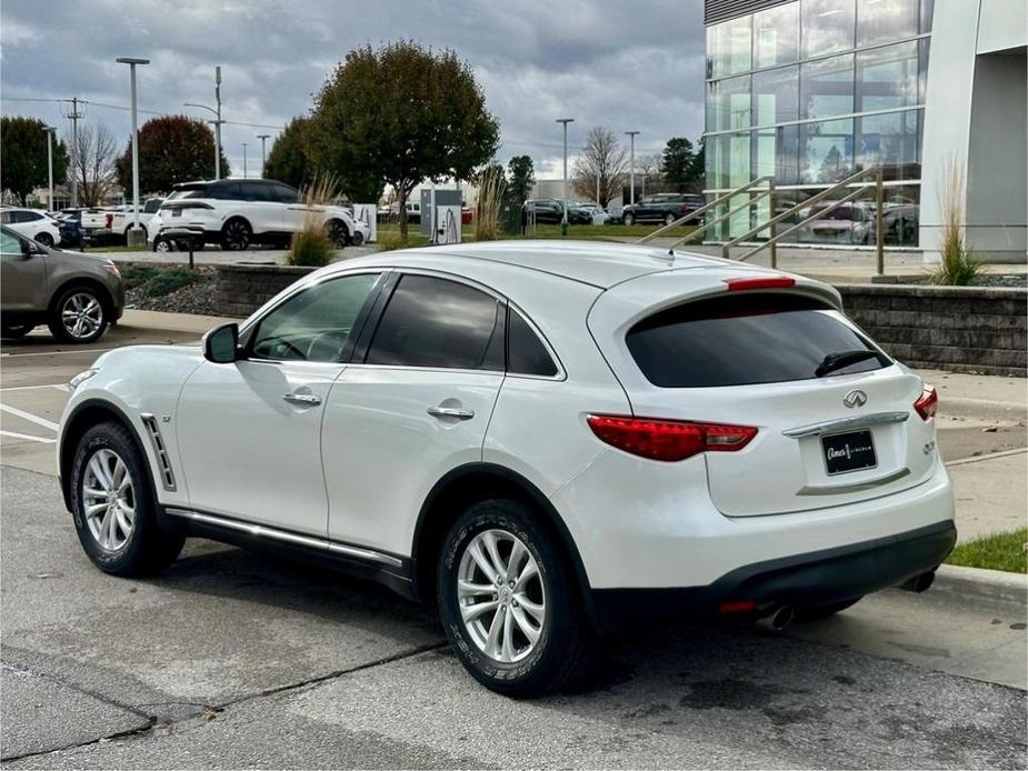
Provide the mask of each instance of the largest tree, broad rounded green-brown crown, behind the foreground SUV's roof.
[{"label": "largest tree, broad rounded green-brown crown, behind the foreground SUV's roof", "polygon": [[415,187],[473,179],[498,142],[471,67],[413,41],[350,51],[318,94],[307,132],[308,157],[351,199],[376,200],[392,187],[405,241]]}]

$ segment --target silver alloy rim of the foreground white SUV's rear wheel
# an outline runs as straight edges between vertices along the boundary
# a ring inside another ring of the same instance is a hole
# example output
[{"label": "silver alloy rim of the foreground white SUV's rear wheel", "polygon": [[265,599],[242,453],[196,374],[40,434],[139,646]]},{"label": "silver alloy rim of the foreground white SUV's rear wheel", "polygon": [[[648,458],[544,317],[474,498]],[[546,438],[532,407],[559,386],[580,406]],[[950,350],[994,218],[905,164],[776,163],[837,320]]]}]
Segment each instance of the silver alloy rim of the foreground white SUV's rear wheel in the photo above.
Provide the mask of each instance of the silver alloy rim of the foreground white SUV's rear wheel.
[{"label": "silver alloy rim of the foreground white SUV's rear wheel", "polygon": [[465,548],[457,603],[476,647],[503,663],[536,648],[546,623],[546,589],[528,547],[506,530],[485,530]]}]

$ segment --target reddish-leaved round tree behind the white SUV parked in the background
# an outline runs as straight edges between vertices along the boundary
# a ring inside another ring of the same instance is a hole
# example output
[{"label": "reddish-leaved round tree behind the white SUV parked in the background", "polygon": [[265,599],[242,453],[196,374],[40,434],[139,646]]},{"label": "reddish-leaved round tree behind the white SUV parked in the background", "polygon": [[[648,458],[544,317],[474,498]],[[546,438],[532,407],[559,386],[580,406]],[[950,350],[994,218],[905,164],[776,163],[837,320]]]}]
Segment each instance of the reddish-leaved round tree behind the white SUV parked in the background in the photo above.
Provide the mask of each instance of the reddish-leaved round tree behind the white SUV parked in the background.
[{"label": "reddish-leaved round tree behind the white SUV parked in the background", "polygon": [[[114,161],[118,183],[132,188],[132,140]],[[221,153],[221,176],[229,161]],[[186,116],[151,118],[139,129],[139,191],[168,193],[180,182],[214,178],[214,134],[202,120]]]}]

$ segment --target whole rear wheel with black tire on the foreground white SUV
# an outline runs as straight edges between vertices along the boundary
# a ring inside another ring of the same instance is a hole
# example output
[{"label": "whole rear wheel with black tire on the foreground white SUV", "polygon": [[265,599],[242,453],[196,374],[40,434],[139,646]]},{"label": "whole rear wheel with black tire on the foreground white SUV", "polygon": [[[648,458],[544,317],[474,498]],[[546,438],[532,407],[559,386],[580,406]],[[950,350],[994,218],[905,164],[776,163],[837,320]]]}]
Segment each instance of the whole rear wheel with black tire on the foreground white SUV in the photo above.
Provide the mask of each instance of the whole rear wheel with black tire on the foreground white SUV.
[{"label": "whole rear wheel with black tire on the foreground white SUV", "polygon": [[[527,552],[516,558],[520,589],[511,588],[515,581],[506,574],[499,584],[487,579],[482,562],[472,557],[477,550],[491,568],[491,551],[506,573],[505,560],[516,544]],[[507,499],[472,504],[447,534],[438,568],[437,600],[447,638],[482,685],[505,695],[536,697],[573,684],[587,671],[591,633],[571,565],[532,509]],[[459,580],[479,590],[459,594]],[[466,622],[462,612],[475,605],[485,608]]]}]

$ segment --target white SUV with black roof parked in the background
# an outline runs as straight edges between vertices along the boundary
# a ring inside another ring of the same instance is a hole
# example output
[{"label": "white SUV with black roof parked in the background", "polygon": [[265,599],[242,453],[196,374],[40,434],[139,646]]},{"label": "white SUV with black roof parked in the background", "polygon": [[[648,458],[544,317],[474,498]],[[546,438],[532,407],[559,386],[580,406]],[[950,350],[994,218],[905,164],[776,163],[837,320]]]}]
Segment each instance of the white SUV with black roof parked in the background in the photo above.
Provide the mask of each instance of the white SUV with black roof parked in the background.
[{"label": "white SUV with black roof parked in the background", "polygon": [[[204,243],[238,251],[253,243],[287,246],[309,219],[323,227],[338,247],[360,246],[370,232],[349,211],[307,206],[296,189],[269,179],[223,179],[177,184],[148,222],[154,251],[168,251],[183,231]],[[179,234],[170,238],[169,232]]]}]

